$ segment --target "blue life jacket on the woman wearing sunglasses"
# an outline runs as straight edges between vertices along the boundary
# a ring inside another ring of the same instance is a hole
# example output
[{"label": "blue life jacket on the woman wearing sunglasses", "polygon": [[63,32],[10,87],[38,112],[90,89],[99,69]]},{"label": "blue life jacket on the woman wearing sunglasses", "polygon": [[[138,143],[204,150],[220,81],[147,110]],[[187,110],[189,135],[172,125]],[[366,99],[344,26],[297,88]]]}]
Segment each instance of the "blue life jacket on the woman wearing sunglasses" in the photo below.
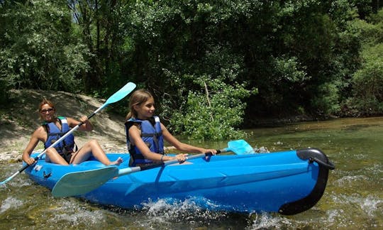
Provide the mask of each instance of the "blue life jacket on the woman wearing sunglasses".
[{"label": "blue life jacket on the woman wearing sunglasses", "polygon": [[[55,141],[64,136],[67,131],[70,131],[70,126],[68,125],[68,121],[64,116],[59,116],[57,119],[60,121],[61,130],[55,125],[55,122],[43,124],[48,134],[47,141],[44,143],[45,148],[49,148],[52,143],[55,143]],[[66,138],[64,138],[64,140],[60,141],[60,143],[57,143],[55,149],[57,150],[57,153],[65,157],[65,155],[68,153],[73,152],[74,146],[74,136],[71,133]]]}]

